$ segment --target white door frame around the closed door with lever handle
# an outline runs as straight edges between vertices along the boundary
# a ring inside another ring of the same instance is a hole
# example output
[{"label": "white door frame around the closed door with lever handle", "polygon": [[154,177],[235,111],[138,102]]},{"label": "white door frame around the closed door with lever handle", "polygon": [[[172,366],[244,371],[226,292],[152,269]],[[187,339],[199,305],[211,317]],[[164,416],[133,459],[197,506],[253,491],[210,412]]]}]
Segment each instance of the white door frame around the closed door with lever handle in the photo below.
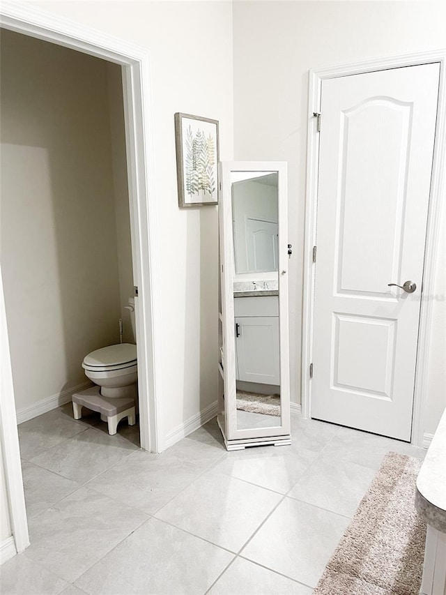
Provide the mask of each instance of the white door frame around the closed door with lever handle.
[{"label": "white door frame around the closed door with lever handle", "polygon": [[[362,62],[309,70],[308,135],[307,135],[307,191],[305,197],[305,251],[304,251],[304,292],[302,320],[302,416],[312,414],[312,382],[309,368],[313,361],[313,320],[314,320],[314,273],[313,246],[316,246],[317,193],[319,169],[319,135],[314,113],[321,110],[321,91],[324,80],[402,68],[422,64],[440,63],[440,84],[438,89],[438,111],[436,137],[433,149],[431,193],[426,228],[424,250],[424,270],[422,278],[420,326],[418,329],[417,360],[415,364],[415,389],[413,399],[412,438],[415,446],[423,446],[424,403],[427,392],[428,347],[433,324],[432,301],[423,296],[433,295],[433,283],[438,238],[440,234],[440,199],[446,190],[446,176],[443,163],[446,158],[446,50],[420,52],[396,57],[386,57]],[[323,114],[321,115],[323,126]]]}]

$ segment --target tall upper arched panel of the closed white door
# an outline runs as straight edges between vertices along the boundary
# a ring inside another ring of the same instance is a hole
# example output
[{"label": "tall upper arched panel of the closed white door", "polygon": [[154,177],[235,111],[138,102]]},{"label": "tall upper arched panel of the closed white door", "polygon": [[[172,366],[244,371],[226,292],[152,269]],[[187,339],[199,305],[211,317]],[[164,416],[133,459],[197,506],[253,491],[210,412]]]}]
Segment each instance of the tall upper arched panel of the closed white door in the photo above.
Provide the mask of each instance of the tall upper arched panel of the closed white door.
[{"label": "tall upper arched panel of the closed white door", "polygon": [[371,98],[341,112],[338,292],[387,293],[383,278],[399,276],[411,111]]}]

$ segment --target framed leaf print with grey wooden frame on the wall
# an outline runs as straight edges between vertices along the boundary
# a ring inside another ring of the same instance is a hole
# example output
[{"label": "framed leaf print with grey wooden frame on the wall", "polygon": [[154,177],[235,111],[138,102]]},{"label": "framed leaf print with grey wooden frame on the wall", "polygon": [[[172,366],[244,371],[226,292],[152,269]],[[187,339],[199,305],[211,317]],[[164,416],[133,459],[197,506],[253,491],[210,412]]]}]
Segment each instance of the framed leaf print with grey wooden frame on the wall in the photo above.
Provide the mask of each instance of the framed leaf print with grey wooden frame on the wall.
[{"label": "framed leaf print with grey wooden frame on the wall", "polygon": [[218,121],[177,113],[175,139],[178,204],[217,204]]}]

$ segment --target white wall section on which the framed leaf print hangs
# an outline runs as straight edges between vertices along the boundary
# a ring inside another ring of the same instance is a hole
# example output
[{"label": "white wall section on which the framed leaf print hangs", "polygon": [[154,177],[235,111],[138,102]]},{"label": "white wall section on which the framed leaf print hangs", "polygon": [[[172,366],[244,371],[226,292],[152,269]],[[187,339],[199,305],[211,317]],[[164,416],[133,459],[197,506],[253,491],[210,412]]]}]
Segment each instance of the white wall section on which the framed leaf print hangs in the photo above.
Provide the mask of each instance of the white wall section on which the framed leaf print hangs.
[{"label": "white wall section on which the framed leaf print hangs", "polygon": [[217,397],[217,209],[178,209],[174,113],[217,119],[220,158],[232,158],[232,4],[33,1],[31,5],[151,52],[161,398],[169,433]]}]

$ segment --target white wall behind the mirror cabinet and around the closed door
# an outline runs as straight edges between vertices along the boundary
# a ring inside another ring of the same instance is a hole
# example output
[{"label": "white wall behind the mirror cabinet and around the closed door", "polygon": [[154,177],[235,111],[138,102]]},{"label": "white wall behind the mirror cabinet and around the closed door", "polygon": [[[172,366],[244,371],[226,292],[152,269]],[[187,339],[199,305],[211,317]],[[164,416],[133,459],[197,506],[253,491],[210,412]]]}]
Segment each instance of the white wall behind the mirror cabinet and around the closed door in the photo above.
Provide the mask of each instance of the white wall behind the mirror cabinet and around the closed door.
[{"label": "white wall behind the mirror cabinet and around the closed door", "polygon": [[[308,70],[445,47],[445,22],[444,2],[234,3],[234,156],[289,163],[293,402],[300,402]],[[444,296],[442,266],[439,260],[438,293]],[[444,345],[445,302],[434,307],[438,326],[431,345],[426,432],[435,430],[446,405],[445,352],[438,352]]]}]

